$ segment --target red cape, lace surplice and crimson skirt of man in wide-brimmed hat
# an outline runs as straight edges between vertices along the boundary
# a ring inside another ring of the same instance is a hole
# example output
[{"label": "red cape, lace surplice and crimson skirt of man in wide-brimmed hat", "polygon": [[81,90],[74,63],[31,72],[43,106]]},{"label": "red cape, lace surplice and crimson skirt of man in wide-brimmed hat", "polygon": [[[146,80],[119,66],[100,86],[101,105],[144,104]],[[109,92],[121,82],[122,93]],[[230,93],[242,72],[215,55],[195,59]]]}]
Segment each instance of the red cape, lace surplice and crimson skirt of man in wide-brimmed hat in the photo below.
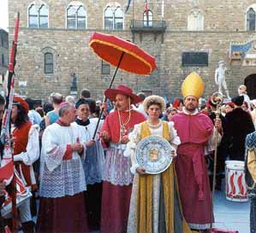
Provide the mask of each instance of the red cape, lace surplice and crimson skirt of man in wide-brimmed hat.
[{"label": "red cape, lace surplice and crimson skirt of man in wide-brimmed hat", "polygon": [[[128,119],[128,112],[120,114],[123,120]],[[125,126],[127,133],[133,131],[134,125],[144,120],[143,114],[131,110],[131,119]],[[107,116],[101,131],[107,131],[111,139],[105,158],[100,232],[126,232],[133,175],[130,172],[130,158],[123,156],[126,145],[119,144],[120,125],[117,110]]]}]

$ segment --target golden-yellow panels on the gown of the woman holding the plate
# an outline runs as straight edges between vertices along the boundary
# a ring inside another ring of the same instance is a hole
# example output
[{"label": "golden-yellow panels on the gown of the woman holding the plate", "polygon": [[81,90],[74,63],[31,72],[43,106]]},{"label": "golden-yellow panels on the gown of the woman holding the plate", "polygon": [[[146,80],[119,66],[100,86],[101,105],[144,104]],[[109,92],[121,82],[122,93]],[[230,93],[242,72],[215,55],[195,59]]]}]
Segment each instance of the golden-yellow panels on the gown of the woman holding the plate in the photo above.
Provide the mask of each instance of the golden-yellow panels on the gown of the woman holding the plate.
[{"label": "golden-yellow panels on the gown of the woman holding the plate", "polygon": [[[151,136],[151,131],[146,121],[141,123],[141,139]],[[168,122],[163,121],[163,137],[170,141],[170,132]],[[175,167],[171,164],[168,169],[161,173],[164,183],[164,211],[165,224],[167,233],[174,233],[174,178]],[[136,213],[136,228],[137,233],[152,233],[152,189],[153,176],[146,174],[139,177],[138,193],[137,193],[137,213]],[[177,183],[177,180],[176,180]],[[178,186],[176,185],[178,192]],[[180,202],[180,201],[179,201]],[[182,213],[182,207],[181,213]],[[183,218],[183,217],[182,217]],[[183,218],[182,220],[183,233],[191,233],[188,223]]]}]

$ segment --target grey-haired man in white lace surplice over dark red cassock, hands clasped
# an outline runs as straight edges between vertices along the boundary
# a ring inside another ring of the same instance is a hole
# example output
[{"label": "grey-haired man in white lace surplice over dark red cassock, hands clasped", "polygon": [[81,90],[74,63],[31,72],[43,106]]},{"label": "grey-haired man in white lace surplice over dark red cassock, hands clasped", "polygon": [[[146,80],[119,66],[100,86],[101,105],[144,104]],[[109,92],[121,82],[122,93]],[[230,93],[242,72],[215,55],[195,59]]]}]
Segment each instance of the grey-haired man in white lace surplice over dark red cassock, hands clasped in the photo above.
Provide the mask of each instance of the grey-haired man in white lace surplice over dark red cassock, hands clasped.
[{"label": "grey-haired man in white lace surplice over dark red cassock, hands clasped", "polygon": [[70,125],[76,118],[74,105],[61,103],[59,116],[42,138],[37,232],[88,232],[81,162],[86,137],[80,125]]}]

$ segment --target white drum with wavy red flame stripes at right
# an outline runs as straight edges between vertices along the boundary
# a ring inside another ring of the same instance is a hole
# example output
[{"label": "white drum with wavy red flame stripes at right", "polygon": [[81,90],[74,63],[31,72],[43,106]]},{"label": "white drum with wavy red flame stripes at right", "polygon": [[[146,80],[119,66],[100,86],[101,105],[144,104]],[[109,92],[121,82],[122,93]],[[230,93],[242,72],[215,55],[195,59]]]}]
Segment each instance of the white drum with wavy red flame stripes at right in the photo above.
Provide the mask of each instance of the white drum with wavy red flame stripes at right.
[{"label": "white drum with wavy red flame stripes at right", "polygon": [[248,201],[245,168],[243,161],[228,160],[226,163],[226,199]]}]

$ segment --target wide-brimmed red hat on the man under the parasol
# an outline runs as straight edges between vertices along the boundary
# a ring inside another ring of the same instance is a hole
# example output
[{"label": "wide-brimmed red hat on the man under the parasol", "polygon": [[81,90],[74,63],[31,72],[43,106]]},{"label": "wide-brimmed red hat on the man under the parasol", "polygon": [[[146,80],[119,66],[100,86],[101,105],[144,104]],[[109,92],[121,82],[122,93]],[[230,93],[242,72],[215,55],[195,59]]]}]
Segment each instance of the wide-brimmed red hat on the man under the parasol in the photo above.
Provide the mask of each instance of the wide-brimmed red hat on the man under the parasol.
[{"label": "wide-brimmed red hat on the man under the parasol", "polygon": [[143,101],[140,96],[135,95],[133,93],[133,90],[125,85],[118,85],[116,88],[109,88],[104,91],[104,95],[106,96],[106,98],[110,99],[110,101],[116,101],[117,94],[129,96],[131,98],[131,103],[133,104]]}]

